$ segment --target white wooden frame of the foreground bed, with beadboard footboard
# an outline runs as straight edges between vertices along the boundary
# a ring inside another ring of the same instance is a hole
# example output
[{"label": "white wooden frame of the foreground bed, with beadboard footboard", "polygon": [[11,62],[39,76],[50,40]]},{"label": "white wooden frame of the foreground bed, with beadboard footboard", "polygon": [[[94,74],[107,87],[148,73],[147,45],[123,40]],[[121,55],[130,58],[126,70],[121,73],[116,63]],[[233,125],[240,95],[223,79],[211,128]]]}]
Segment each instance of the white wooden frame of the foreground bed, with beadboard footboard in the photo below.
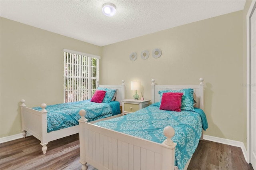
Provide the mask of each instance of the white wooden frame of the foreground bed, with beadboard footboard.
[{"label": "white wooden frame of the foreground bed, with beadboard footboard", "polygon": [[[204,109],[203,78],[200,78],[199,85],[156,85],[154,81],[152,79],[152,103],[160,100],[160,90],[191,88],[194,89],[197,102],[195,107]],[[81,110],[79,114],[82,170],[87,170],[87,163],[98,170],[178,170],[174,166],[176,143],[171,139],[174,136],[172,127],[164,128],[167,139],[159,144],[94,125],[98,121],[87,123],[85,111]]]}]

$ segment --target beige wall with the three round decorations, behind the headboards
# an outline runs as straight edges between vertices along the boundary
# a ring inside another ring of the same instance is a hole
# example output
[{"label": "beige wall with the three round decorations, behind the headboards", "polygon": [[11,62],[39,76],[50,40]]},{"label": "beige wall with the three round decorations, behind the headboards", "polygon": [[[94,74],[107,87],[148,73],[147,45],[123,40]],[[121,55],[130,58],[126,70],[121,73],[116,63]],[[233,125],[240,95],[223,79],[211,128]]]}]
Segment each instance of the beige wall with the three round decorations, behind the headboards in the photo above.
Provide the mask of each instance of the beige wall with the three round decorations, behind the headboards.
[{"label": "beige wall with the three round decorations, behind the headboards", "polygon": [[[162,49],[158,59],[152,57],[154,48]],[[145,49],[150,57],[143,60],[140,52]],[[129,60],[132,52],[138,54],[136,61]],[[144,98],[150,99],[153,78],[158,84],[198,84],[204,77],[209,124],[205,134],[246,142],[243,11],[106,45],[101,63],[100,82],[116,84],[124,79],[127,98],[134,93],[132,80],[142,82]]]}]

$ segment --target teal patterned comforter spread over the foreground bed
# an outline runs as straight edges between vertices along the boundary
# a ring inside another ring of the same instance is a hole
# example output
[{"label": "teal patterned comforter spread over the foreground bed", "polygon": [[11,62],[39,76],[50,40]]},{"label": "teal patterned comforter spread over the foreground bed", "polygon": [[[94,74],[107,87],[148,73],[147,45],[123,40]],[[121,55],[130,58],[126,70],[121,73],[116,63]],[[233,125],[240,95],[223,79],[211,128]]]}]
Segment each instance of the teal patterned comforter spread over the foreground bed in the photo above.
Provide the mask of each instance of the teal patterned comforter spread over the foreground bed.
[{"label": "teal patterned comforter spread over the foreground bed", "polygon": [[198,108],[196,111],[201,113],[164,111],[160,110],[158,105],[150,105],[122,117],[97,122],[95,125],[158,143],[166,139],[163,134],[164,127],[173,127],[175,135],[172,140],[177,143],[175,166],[183,170],[198,146],[202,127],[204,130],[208,128],[204,111]]}]

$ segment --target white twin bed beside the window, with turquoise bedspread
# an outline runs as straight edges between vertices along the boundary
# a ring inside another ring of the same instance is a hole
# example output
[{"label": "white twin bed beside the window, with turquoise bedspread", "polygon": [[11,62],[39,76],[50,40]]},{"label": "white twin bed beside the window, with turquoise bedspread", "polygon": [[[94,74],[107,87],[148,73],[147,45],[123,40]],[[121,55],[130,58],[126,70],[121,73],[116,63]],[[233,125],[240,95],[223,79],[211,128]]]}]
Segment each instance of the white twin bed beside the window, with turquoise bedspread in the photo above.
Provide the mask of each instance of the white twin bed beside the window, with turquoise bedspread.
[{"label": "white twin bed beside the window, with turquoise bedspread", "polygon": [[[78,112],[85,109],[88,112],[87,119],[90,121],[118,115],[120,113],[121,100],[125,99],[125,84],[122,85],[98,85],[101,89],[115,89],[115,101],[109,103],[94,103],[90,99],[72,103],[62,103],[57,105],[29,108],[25,105],[25,100],[21,100],[21,120],[23,136],[27,132],[40,140],[42,151],[45,154],[48,142],[70,136],[79,132]],[[47,109],[47,110],[46,110]],[[64,113],[60,115],[59,113]],[[121,114],[122,115],[122,114]],[[71,118],[71,120],[70,120]]]}]

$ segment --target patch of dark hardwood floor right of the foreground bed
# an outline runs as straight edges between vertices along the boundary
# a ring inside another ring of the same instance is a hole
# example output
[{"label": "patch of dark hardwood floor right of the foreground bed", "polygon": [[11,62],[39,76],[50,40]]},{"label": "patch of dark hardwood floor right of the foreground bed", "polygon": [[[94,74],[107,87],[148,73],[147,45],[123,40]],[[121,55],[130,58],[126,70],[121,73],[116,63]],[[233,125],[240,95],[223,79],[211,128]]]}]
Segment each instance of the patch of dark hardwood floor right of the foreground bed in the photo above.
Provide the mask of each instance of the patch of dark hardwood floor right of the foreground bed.
[{"label": "patch of dark hardwood floor right of the foreground bed", "polygon": [[188,170],[253,170],[236,146],[200,140]]}]

